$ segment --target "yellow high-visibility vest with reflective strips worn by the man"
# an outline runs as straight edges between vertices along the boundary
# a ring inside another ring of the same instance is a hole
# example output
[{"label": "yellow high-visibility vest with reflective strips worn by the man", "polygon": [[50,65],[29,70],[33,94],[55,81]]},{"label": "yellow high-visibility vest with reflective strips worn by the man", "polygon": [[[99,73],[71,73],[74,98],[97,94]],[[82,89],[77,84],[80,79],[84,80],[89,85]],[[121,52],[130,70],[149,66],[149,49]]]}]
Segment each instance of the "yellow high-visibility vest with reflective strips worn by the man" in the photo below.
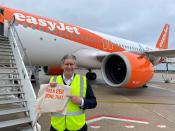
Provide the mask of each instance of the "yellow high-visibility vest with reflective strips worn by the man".
[{"label": "yellow high-visibility vest with reflective strips worn by the man", "polygon": [[[51,77],[50,82],[53,81],[58,84],[64,84],[61,75]],[[72,88],[73,96],[85,97],[87,88],[87,80],[85,76],[76,74],[70,86]],[[64,131],[65,129],[70,131],[79,130],[85,125],[85,120],[86,116],[84,110],[71,101],[68,102],[66,115],[60,115],[58,113],[51,114],[51,125],[58,131]]]}]

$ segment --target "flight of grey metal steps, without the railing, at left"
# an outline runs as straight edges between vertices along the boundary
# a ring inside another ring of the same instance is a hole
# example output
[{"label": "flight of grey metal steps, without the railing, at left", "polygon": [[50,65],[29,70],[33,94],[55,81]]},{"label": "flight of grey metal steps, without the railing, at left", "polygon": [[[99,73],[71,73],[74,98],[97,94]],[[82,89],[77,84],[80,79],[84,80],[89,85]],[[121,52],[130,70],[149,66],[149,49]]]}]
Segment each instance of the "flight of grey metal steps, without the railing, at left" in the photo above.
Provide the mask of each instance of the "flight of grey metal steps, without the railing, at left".
[{"label": "flight of grey metal steps, without the railing, at left", "polygon": [[20,78],[12,48],[9,39],[0,35],[0,131],[11,126],[18,129],[18,125],[33,131],[24,78]]}]

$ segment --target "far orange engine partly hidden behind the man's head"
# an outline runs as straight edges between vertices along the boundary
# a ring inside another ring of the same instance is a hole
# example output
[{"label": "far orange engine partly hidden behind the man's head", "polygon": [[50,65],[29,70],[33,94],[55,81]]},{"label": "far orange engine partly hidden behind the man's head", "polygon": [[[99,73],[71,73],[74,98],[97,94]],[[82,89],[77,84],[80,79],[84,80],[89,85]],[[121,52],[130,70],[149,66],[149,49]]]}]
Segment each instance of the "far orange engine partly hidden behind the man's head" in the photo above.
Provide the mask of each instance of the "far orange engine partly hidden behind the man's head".
[{"label": "far orange engine partly hidden behind the man's head", "polygon": [[63,73],[61,66],[44,66],[43,69],[47,75],[61,75]]}]

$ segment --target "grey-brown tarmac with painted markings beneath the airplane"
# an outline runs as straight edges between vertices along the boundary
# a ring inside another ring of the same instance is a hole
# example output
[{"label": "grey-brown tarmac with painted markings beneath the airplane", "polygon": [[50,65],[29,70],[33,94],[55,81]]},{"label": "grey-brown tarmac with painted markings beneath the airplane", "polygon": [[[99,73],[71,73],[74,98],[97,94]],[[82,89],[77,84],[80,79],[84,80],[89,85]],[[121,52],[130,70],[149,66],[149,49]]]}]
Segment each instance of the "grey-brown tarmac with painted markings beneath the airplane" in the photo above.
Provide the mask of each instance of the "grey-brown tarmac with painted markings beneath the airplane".
[{"label": "grey-brown tarmac with painted markings beneath the airplane", "polygon": [[[85,74],[84,70],[77,70]],[[101,73],[91,81],[97,98],[97,107],[86,110],[88,131],[174,131],[175,130],[175,83],[164,83],[165,77],[175,79],[175,74],[156,73],[147,84],[148,88],[122,89],[105,84]],[[39,84],[48,83],[50,76],[39,74]],[[34,84],[37,94],[39,84]],[[42,131],[49,131],[50,113],[38,120]],[[0,129],[1,131],[2,129]],[[9,128],[2,131],[19,131]]]}]

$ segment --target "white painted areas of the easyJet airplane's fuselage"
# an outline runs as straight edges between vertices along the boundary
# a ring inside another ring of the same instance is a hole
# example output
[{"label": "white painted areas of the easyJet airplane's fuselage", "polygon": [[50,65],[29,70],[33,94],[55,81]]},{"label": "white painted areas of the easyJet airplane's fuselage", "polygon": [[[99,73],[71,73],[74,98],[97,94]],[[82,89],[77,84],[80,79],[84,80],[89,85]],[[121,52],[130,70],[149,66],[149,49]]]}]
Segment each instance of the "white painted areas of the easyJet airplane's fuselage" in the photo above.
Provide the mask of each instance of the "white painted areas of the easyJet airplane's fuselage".
[{"label": "white painted areas of the easyJet airplane's fuselage", "polygon": [[[15,28],[24,48],[26,49],[26,53],[31,60],[32,65],[58,65],[60,64],[61,58],[65,54],[75,54],[82,49],[86,49],[87,52],[85,53],[88,53],[88,50],[100,51],[96,48],[92,48],[43,31],[24,27],[22,25],[17,25]],[[152,48],[150,46],[137,42],[117,38],[91,30],[88,31],[112,41],[118,46],[124,48],[126,51],[139,54],[143,51],[157,50],[156,48]],[[104,48],[108,48],[108,46],[106,46],[106,43],[102,44],[105,44],[103,46]]]}]

